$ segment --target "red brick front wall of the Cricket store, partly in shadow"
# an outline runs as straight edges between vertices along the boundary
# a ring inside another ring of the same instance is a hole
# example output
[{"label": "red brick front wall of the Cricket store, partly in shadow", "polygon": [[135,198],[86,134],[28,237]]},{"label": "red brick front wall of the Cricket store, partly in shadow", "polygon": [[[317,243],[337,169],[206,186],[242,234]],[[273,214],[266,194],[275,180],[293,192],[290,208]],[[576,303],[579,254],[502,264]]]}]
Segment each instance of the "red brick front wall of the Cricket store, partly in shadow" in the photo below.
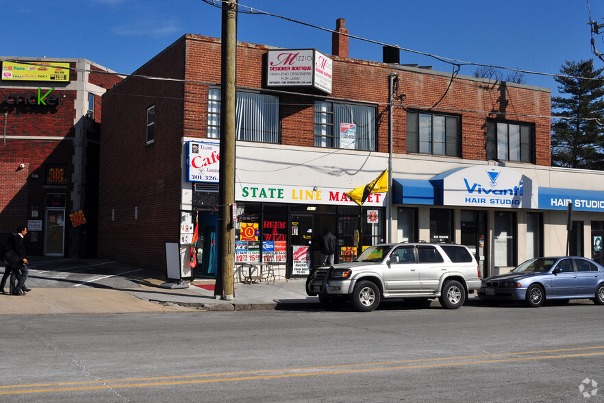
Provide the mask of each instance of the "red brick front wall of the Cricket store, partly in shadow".
[{"label": "red brick front wall of the Cricket store, partly in shadow", "polygon": [[[7,136],[73,136],[73,119],[75,117],[75,92],[55,89],[53,95],[65,95],[62,103],[55,108],[40,106],[10,106],[4,102],[8,94],[34,93],[34,90],[23,88],[0,88],[0,127],[5,125]],[[37,95],[37,90],[35,90]],[[4,145],[0,140],[0,234],[11,232],[17,225],[27,224],[28,219],[43,219],[45,193],[71,192],[69,178],[72,173],[73,142],[65,140],[14,139],[7,138]],[[17,171],[20,163],[24,169]],[[45,187],[47,164],[61,164],[66,167],[68,184]],[[38,178],[29,177],[37,173]],[[29,177],[29,179],[28,179]],[[6,184],[6,186],[5,186]],[[69,197],[68,197],[69,199]],[[32,207],[38,207],[38,217],[32,217]],[[68,210],[71,205],[67,206]],[[66,233],[66,245],[68,245]],[[27,253],[41,255],[43,252],[42,234],[38,242],[29,242]],[[0,240],[1,242],[1,240]]]}]

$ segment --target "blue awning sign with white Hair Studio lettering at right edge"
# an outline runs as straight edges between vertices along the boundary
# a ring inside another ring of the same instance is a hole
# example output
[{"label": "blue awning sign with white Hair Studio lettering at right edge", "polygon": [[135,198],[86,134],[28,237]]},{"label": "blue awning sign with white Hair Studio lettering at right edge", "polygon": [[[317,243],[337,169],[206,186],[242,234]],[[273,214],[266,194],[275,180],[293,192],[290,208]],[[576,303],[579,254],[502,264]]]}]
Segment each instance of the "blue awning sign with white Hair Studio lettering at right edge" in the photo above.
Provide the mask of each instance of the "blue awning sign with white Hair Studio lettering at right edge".
[{"label": "blue awning sign with white Hair Studio lettering at right edge", "polygon": [[578,189],[539,188],[539,208],[544,210],[568,210],[604,212],[604,192]]}]

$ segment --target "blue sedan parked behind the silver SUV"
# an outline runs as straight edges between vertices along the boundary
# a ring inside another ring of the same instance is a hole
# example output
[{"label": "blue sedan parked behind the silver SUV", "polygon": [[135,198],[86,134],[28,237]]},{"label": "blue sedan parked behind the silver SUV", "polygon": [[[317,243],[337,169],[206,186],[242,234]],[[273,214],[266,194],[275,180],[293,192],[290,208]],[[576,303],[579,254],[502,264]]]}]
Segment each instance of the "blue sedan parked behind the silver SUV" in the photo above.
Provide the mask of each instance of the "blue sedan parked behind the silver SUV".
[{"label": "blue sedan parked behind the silver SUV", "polygon": [[604,305],[604,267],[580,256],[534,258],[509,273],[483,279],[478,297],[524,301],[533,307],[545,300],[577,298]]}]

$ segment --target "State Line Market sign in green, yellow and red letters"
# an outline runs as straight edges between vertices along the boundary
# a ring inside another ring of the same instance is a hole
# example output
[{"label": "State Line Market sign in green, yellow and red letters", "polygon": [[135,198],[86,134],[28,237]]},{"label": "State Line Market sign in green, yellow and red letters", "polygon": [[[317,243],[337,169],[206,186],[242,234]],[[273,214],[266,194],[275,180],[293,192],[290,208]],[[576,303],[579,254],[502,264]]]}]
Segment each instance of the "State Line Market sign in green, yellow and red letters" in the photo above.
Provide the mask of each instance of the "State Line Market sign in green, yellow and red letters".
[{"label": "State Line Market sign in green, yellow and red letters", "polygon": [[[352,186],[351,186],[352,187]],[[235,199],[239,202],[328,204],[358,206],[346,193],[351,188],[320,188],[310,186],[236,184]],[[371,193],[363,206],[386,206],[388,193]]]}]

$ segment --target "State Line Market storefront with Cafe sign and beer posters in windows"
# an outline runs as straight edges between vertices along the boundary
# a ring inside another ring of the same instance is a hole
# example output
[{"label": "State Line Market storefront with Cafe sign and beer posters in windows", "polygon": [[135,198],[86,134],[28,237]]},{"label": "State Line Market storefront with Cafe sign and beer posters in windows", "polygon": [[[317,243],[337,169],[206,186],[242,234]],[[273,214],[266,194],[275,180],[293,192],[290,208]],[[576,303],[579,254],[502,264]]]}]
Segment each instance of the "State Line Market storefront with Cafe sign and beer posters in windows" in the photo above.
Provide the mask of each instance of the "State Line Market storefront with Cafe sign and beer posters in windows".
[{"label": "State Line Market storefront with Cafe sign and beer posters in windows", "polygon": [[[184,160],[188,177],[184,194],[192,195],[192,210],[183,210],[181,247],[191,245],[197,232],[197,264],[192,278],[216,277],[218,215],[218,144],[189,141]],[[320,265],[318,240],[329,230],[338,239],[336,262],[353,260],[362,250],[386,237],[386,195],[372,193],[359,206],[351,188],[236,183],[235,260],[274,262],[281,276],[306,276]],[[186,277],[186,276],[185,276]]]}]

